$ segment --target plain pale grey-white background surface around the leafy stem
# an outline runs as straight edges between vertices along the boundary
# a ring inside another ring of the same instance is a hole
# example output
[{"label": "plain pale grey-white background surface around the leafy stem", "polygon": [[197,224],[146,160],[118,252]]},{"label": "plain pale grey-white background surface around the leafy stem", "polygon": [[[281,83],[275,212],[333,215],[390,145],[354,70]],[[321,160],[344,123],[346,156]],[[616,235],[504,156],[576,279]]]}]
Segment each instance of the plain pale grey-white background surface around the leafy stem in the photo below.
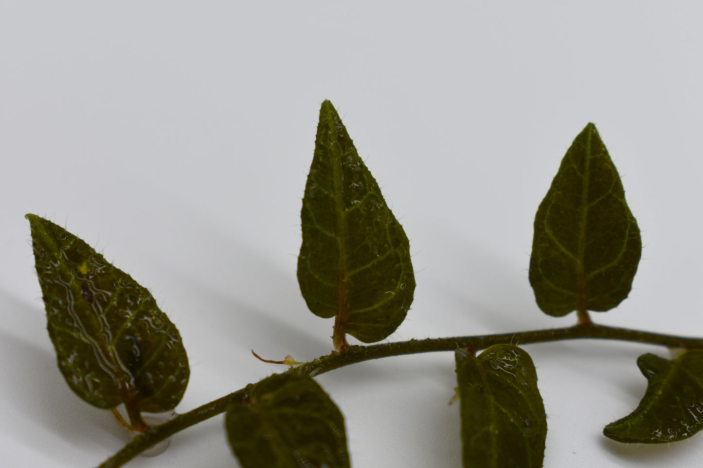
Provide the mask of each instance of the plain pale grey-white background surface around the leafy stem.
[{"label": "plain pale grey-white background surface around the leafy stem", "polygon": [[[187,4],[186,4],[187,3]],[[581,6],[575,6],[577,3]],[[418,287],[389,340],[567,326],[527,280],[534,212],[595,122],[643,238],[630,297],[598,323],[703,335],[699,2],[0,1],[0,453],[92,467],[126,441],[56,368],[27,212],[149,287],[179,327],[191,410],[330,351],[295,278],[319,105],[332,100],[411,238]],[[602,427],[638,355],[526,345],[546,467],[698,467],[702,436],[624,446]],[[458,467],[452,353],[318,379],[356,468]],[[237,466],[216,417],[133,467]]]}]

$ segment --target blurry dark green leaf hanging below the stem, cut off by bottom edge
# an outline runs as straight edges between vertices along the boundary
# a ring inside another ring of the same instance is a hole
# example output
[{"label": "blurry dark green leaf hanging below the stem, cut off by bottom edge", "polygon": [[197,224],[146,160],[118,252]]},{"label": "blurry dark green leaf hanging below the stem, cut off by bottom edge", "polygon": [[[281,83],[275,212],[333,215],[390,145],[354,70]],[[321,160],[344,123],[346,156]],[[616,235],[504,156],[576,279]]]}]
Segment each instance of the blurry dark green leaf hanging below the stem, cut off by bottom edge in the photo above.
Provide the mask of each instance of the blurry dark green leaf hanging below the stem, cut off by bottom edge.
[{"label": "blurry dark green leaf hanging below the stem, cut off by bottom edge", "polygon": [[244,468],[349,467],[344,417],[307,375],[274,374],[228,408],[230,446]]}]

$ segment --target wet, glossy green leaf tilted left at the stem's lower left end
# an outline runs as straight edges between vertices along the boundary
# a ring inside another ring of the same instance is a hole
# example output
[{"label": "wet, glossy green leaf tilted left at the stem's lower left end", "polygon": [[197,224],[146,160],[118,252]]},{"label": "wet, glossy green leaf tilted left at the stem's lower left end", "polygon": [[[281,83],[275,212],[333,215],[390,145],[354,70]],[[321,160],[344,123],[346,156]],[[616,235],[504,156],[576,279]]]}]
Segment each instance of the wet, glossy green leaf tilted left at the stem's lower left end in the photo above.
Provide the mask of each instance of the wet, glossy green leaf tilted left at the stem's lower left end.
[{"label": "wet, glossy green leaf tilted left at the stem's lower left end", "polygon": [[98,408],[174,408],[188,384],[188,358],[155,299],[75,235],[26,217],[49,337],[70,388]]}]

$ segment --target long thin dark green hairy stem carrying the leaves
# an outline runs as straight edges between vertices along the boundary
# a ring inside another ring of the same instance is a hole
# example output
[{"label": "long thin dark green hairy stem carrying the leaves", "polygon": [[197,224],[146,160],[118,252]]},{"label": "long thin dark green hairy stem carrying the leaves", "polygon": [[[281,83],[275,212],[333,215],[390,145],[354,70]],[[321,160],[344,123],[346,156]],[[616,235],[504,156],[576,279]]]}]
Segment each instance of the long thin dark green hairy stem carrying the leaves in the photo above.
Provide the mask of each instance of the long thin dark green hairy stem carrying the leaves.
[{"label": "long thin dark green hairy stem carrying the leaves", "polygon": [[[703,348],[703,339],[677,337],[669,334],[640,332],[626,328],[607,327],[594,323],[579,323],[573,327],[553,328],[549,330],[534,330],[530,332],[487,334],[468,337],[411,339],[407,342],[382,343],[371,346],[349,346],[341,352],[321,356],[316,360],[304,363],[286,372],[301,375],[321,375],[330,370],[342,368],[345,365],[361,363],[365,360],[401,356],[404,354],[428,353],[432,351],[454,351],[458,348],[468,348],[472,351],[486,349],[494,344],[513,343],[528,344],[555,342],[563,339],[618,339],[630,342],[659,344],[669,348],[695,349]],[[177,432],[191,427],[198,422],[225,412],[229,405],[240,403],[247,398],[253,384],[245,386],[232,394],[218,398],[205,405],[175,417],[169,422],[150,427],[143,434],[136,436],[131,442],[115,453],[98,468],[117,468],[129,462],[139,453],[163,441]]]}]

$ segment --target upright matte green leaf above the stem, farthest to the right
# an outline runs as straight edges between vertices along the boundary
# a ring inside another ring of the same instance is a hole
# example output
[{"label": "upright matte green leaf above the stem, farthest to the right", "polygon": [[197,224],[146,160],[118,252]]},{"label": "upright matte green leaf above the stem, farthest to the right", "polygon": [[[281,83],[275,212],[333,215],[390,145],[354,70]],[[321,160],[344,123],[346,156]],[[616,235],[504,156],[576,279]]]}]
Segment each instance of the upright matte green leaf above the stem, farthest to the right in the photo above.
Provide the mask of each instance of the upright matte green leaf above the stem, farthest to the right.
[{"label": "upright matte green leaf above the stem, farthest to the right", "polygon": [[632,287],[640,229],[595,125],[567,150],[534,219],[529,280],[550,316],[608,311]]}]

